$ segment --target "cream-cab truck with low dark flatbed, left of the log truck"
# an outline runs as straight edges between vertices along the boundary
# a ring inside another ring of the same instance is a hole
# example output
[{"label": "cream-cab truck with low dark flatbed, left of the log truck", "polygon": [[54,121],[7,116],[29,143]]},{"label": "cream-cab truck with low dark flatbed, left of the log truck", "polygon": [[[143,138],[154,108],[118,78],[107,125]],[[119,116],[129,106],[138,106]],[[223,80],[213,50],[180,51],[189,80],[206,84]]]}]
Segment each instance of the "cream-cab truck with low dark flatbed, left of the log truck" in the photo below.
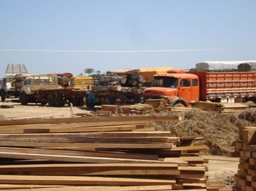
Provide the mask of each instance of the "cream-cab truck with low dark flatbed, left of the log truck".
[{"label": "cream-cab truck with low dark flatbed, left of the log truck", "polygon": [[60,86],[57,74],[30,75],[24,79],[19,101],[21,105],[48,103],[49,106],[61,107],[66,103],[73,103],[73,105],[82,106],[85,93],[85,90]]}]

